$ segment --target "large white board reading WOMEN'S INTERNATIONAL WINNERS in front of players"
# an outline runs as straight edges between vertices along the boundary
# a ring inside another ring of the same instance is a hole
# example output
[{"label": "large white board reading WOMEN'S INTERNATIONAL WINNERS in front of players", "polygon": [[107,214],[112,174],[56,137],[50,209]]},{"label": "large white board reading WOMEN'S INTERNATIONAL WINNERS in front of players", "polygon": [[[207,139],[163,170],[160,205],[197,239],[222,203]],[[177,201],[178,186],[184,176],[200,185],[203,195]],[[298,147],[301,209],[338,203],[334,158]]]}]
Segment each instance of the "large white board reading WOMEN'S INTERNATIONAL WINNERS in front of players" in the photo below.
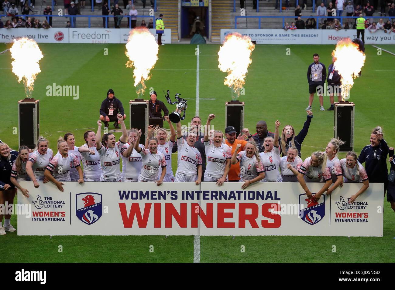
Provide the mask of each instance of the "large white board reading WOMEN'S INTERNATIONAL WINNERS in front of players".
[{"label": "large white board reading WOMEN'S INTERNATIONAL WINNERS in front of players", "polygon": [[[18,191],[19,235],[382,236],[383,184],[344,183],[318,202],[299,183],[52,183]],[[235,187],[235,185],[240,185]],[[317,192],[322,183],[308,183]]]}]

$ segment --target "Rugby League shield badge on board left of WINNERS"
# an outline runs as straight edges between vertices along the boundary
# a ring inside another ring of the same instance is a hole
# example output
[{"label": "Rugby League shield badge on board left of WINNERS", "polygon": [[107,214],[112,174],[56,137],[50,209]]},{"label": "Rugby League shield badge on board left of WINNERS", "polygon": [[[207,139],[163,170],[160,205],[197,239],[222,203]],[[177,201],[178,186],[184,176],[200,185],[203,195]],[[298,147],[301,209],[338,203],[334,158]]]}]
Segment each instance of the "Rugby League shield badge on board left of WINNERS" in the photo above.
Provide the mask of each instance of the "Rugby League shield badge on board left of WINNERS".
[{"label": "Rugby League shield badge on board left of WINNERS", "polygon": [[92,225],[103,214],[102,195],[99,193],[79,193],[75,196],[75,214],[87,225]]}]

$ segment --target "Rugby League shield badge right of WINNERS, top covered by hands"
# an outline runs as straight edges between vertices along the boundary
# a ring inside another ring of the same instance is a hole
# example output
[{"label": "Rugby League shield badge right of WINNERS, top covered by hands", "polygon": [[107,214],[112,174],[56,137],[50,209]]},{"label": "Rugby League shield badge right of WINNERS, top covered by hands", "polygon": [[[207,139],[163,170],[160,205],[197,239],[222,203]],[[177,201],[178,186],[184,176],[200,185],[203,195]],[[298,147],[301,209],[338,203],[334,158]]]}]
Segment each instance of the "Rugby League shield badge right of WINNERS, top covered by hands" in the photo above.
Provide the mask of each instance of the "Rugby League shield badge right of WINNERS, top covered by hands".
[{"label": "Rugby League shield badge right of WINNERS, top covered by hands", "polygon": [[315,225],[325,216],[325,195],[318,201],[309,199],[306,194],[299,195],[299,206],[299,217],[309,225]]}]

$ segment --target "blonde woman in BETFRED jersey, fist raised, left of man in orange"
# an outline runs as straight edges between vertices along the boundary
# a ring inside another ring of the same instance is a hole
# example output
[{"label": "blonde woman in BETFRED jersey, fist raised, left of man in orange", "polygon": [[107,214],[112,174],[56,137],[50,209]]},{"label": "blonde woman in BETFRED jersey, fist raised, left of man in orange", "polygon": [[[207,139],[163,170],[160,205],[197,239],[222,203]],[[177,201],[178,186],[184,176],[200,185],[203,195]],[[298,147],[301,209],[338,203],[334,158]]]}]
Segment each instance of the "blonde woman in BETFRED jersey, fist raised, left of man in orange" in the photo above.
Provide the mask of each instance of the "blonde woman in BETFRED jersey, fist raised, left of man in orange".
[{"label": "blonde woman in BETFRED jersey, fist raised, left of man in orange", "polygon": [[214,131],[213,138],[209,139],[208,128],[210,127],[211,120],[214,118],[214,114],[209,115],[204,130],[203,140],[207,160],[204,181],[216,182],[218,186],[221,186],[228,180],[232,154],[230,147],[222,143],[224,140],[224,134],[221,131]]}]

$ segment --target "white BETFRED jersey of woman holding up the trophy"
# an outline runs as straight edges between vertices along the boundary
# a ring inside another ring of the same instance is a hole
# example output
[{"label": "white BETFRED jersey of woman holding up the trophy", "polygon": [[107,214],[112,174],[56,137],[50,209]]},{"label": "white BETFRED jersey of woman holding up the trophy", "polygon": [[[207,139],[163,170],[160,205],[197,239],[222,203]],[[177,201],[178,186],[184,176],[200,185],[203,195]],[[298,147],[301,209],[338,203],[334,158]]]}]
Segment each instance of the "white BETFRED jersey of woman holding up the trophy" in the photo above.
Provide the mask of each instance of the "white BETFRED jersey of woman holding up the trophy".
[{"label": "white BETFRED jersey of woman holding up the trophy", "polygon": [[177,172],[182,175],[196,175],[198,165],[202,165],[201,155],[194,146],[189,146],[184,138],[177,138]]}]

